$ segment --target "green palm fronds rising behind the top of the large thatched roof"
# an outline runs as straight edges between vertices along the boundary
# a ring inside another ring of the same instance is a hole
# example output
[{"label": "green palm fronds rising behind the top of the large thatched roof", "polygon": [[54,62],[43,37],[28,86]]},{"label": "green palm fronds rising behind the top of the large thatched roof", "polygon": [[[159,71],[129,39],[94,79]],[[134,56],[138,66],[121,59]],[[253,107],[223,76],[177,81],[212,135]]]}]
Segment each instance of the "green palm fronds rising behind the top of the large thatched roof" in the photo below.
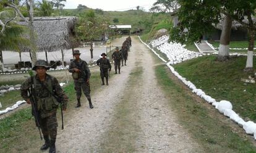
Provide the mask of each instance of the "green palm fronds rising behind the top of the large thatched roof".
[{"label": "green palm fronds rising behind the top of the large thatched roof", "polygon": [[40,15],[43,17],[50,17],[53,14],[53,4],[52,2],[43,0],[38,2],[38,9],[40,11]]}]

